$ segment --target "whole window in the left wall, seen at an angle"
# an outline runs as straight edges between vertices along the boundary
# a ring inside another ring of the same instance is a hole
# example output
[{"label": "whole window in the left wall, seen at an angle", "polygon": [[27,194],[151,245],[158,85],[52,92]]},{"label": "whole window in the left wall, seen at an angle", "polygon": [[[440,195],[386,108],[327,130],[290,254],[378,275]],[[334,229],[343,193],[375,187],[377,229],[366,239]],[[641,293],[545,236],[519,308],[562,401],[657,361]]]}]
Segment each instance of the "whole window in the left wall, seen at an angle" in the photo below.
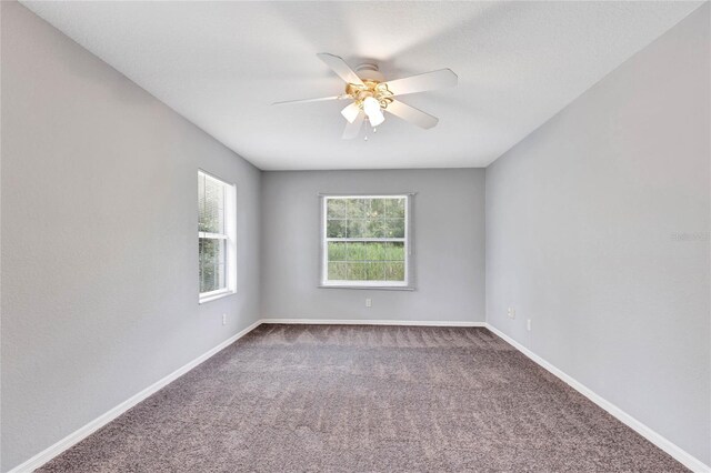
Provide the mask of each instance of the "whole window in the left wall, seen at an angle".
[{"label": "whole window in the left wall, seen at an angle", "polygon": [[200,302],[236,290],[234,185],[198,171]]}]

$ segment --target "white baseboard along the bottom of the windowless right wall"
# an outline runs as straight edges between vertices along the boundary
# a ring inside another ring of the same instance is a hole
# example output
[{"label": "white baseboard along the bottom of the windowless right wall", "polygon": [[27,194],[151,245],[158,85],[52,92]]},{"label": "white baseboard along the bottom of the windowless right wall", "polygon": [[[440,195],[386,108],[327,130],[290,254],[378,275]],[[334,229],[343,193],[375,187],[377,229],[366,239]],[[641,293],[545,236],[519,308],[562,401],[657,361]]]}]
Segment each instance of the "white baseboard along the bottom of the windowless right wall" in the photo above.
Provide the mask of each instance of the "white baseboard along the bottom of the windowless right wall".
[{"label": "white baseboard along the bottom of the windowless right wall", "polygon": [[525,346],[523,346],[522,344],[520,344],[515,340],[511,339],[510,336],[508,336],[507,334],[504,334],[503,332],[501,332],[499,329],[494,328],[493,325],[487,324],[487,328],[491,332],[493,332],[494,334],[497,334],[498,336],[503,339],[503,341],[509,343],[511,346],[513,346],[514,349],[517,349],[518,351],[523,353],[525,356],[528,356],[529,359],[531,359],[532,361],[538,363],[541,368],[545,369],[551,374],[553,374],[557,378],[559,378],[561,381],[563,381],[564,383],[570,385],[572,389],[578,391],[580,394],[584,395],[590,401],[594,402],[600,407],[605,410],[608,413],[610,413],[617,420],[619,420],[620,422],[622,422],[623,424],[625,424],[627,426],[629,426],[630,429],[632,429],[633,431],[635,431],[637,433],[642,435],[644,439],[649,440],[651,443],[657,445],[659,449],[661,449],[664,452],[667,452],[670,456],[672,456],[679,463],[683,464],[689,470],[691,470],[691,471],[693,471],[695,473],[711,473],[711,466],[704,464],[702,461],[700,461],[695,456],[691,455],[687,451],[682,450],[677,444],[670,442],[668,439],[665,439],[664,436],[660,435],[659,433],[657,433],[652,429],[648,427],[647,425],[644,425],[643,423],[641,423],[637,419],[632,417],[630,414],[628,414],[627,412],[622,411],[617,405],[612,404],[611,402],[609,402],[604,397],[598,395],[595,392],[593,392],[588,386],[585,386],[584,384],[582,384],[579,381],[577,381],[574,378],[568,375],[563,371],[561,371],[558,368],[553,366],[551,363],[549,363],[548,361],[543,360],[541,356],[537,355],[535,353],[533,353],[532,351],[530,351],[529,349],[527,349]]}]

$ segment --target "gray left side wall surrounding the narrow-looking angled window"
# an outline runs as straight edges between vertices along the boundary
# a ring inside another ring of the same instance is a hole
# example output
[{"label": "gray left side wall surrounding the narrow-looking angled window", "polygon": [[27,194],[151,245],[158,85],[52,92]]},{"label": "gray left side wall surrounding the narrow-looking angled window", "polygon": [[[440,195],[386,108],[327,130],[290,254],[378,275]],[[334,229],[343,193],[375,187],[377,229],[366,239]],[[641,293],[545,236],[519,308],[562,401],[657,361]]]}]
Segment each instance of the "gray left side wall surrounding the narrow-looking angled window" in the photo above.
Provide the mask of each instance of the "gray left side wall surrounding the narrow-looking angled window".
[{"label": "gray left side wall surrounding the narrow-looking angled window", "polygon": [[[7,471],[259,318],[260,171],[1,3]],[[238,293],[203,305],[199,167],[238,189]]]}]

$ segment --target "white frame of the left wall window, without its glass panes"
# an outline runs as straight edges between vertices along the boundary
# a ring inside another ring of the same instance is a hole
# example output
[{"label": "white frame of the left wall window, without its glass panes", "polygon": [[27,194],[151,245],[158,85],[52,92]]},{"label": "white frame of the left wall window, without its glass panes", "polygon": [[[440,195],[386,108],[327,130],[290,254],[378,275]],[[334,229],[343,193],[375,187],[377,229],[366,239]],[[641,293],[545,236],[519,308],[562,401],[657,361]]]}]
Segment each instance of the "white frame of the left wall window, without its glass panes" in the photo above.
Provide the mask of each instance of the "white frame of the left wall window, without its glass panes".
[{"label": "white frame of the left wall window, without its glass panes", "polygon": [[[220,178],[210,174],[202,169],[198,170],[198,179],[211,179],[220,183],[224,189],[224,231],[226,233],[211,233],[198,231],[198,245],[200,239],[226,240],[226,258],[224,258],[224,288],[214,291],[200,292],[198,302],[214,301],[237,292],[237,187],[226,182]],[[198,197],[199,198],[199,197]],[[200,219],[200,209],[198,209],[198,221]],[[198,250],[199,251],[199,250]],[[198,254],[199,256],[199,254]],[[199,260],[198,260],[199,261]],[[200,270],[198,269],[198,291],[200,291]]]}]

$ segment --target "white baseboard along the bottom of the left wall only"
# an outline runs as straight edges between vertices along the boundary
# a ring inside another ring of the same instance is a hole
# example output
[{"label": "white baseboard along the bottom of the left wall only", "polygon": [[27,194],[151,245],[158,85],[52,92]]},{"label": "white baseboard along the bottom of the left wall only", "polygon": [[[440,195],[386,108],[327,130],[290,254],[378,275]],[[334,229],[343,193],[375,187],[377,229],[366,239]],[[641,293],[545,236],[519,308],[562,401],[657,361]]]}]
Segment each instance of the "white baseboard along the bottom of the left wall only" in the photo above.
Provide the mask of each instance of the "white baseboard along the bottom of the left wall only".
[{"label": "white baseboard along the bottom of the left wall only", "polygon": [[39,469],[44,463],[47,463],[50,460],[52,460],[54,456],[57,456],[60,453],[64,452],[69,447],[73,446],[74,444],[79,443],[80,441],[82,441],[86,437],[88,437],[89,435],[91,435],[93,432],[98,431],[99,429],[101,429],[102,426],[108,424],[109,422],[113,421],[116,417],[118,417],[119,415],[123,414],[126,411],[128,411],[129,409],[133,407],[139,402],[146,400],[151,394],[160,391],[162,388],[164,388],[166,385],[172,383],[178,378],[182,376],[183,374],[186,374],[187,372],[189,372],[193,368],[198,366],[200,363],[207,361],[208,359],[210,359],[211,356],[213,356],[214,354],[217,354],[221,350],[226,349],[228,345],[231,345],[237,340],[239,340],[242,336],[247,335],[249,332],[251,332],[252,330],[254,330],[259,325],[261,325],[261,323],[262,323],[261,320],[258,320],[257,322],[252,323],[250,326],[248,326],[247,329],[242,330],[238,334],[230,336],[224,342],[222,342],[219,345],[214,346],[213,349],[211,349],[207,353],[201,354],[197,359],[192,360],[190,363],[179,368],[178,370],[173,371],[172,373],[170,373],[166,378],[163,378],[163,379],[157,381],[156,383],[151,384],[150,386],[146,388],[143,391],[139,392],[138,394],[132,395],[128,400],[123,401],[121,404],[117,405],[116,407],[113,407],[110,411],[108,411],[108,412],[103,413],[102,415],[98,416],[97,419],[94,419],[93,421],[89,422],[88,424],[86,424],[84,426],[80,427],[79,430],[77,430],[77,431],[72,432],[71,434],[67,435],[64,439],[60,440],[59,442],[54,443],[53,445],[49,446],[48,449],[44,449],[43,451],[41,451],[37,455],[32,456],[30,460],[28,460],[28,461],[19,464],[18,466],[13,467],[8,473],[28,473],[28,472],[34,471],[36,469]]}]

